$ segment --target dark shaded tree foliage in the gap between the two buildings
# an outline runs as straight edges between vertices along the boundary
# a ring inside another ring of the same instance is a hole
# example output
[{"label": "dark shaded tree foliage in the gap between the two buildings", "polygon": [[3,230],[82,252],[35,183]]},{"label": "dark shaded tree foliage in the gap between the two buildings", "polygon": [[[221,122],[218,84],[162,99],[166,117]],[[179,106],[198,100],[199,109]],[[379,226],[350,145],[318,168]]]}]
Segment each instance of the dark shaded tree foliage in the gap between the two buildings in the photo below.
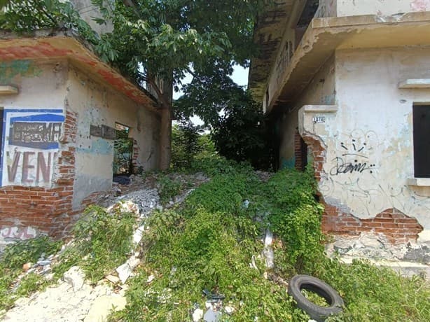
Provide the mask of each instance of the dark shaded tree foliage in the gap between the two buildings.
[{"label": "dark shaded tree foliage in the gap between the two buildings", "polygon": [[197,114],[211,127],[216,151],[227,159],[246,161],[256,169],[271,169],[274,145],[268,120],[251,94],[215,68],[211,74],[183,85],[183,96],[174,102],[178,118]]}]

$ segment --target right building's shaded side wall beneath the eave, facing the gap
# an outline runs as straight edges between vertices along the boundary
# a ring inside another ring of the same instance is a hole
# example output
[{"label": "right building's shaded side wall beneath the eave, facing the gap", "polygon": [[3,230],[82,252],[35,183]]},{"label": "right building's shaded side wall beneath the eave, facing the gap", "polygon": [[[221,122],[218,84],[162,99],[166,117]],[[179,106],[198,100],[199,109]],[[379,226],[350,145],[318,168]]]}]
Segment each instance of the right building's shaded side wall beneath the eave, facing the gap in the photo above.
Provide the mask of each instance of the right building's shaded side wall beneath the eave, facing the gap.
[{"label": "right building's shaded side wall beneath the eave, facing the gap", "polygon": [[334,55],[321,67],[303,94],[284,112],[280,121],[279,165],[281,167],[294,167],[294,134],[298,127],[298,109],[306,104],[335,104]]}]

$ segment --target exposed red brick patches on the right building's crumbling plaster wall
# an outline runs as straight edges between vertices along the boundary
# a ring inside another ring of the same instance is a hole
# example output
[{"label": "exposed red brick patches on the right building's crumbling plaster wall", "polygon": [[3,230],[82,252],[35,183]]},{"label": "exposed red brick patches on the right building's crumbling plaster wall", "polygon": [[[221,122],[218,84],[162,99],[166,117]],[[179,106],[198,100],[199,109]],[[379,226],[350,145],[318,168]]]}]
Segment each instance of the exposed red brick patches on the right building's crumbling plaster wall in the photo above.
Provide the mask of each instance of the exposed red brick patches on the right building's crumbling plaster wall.
[{"label": "exposed red brick patches on the right building's crumbling plaster wall", "polygon": [[[321,181],[323,165],[326,160],[326,147],[317,137],[303,135],[303,140],[314,158],[315,179]],[[416,240],[422,226],[415,218],[410,218],[398,209],[385,209],[374,218],[360,219],[352,214],[345,214],[338,207],[324,202],[325,206],[321,228],[324,232],[336,235],[359,235],[361,232],[381,233],[393,244],[402,244],[409,240]]]}]

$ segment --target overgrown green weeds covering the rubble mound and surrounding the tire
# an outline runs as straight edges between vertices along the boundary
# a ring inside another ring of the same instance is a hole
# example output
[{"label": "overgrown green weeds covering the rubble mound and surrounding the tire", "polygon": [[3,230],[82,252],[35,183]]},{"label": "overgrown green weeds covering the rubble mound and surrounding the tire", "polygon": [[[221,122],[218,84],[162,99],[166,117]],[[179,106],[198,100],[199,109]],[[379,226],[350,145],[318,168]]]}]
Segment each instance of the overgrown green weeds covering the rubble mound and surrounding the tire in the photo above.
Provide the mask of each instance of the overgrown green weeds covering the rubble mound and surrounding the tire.
[{"label": "overgrown green weeds covering the rubble mound and surrounding the tire", "polygon": [[[194,307],[204,308],[202,290],[208,289],[235,308],[223,321],[307,321],[286,287],[265,279],[268,271],[287,281],[304,273],[330,283],[346,304],[344,314],[330,321],[430,321],[429,288],[422,279],[326,258],[323,208],[310,169],[284,170],[268,183],[258,181],[250,167],[222,158],[200,162],[198,170],[211,181],[191,193],[183,208],[149,219],[144,265],[132,279],[126,309],[112,320],[190,321]],[[259,256],[268,226],[276,235],[272,271]],[[258,269],[249,265],[252,255]]]}]

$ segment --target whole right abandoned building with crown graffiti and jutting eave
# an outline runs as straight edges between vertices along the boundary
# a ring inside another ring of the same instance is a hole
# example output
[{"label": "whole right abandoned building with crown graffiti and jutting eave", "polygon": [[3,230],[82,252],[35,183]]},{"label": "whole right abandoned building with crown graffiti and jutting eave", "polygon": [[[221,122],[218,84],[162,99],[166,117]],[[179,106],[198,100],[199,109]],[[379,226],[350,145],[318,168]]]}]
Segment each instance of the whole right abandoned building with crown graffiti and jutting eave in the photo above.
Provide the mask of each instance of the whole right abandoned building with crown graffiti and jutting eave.
[{"label": "whole right abandoned building with crown graffiti and jutting eave", "polygon": [[280,0],[249,87],[279,167],[313,164],[325,232],[430,241],[430,1]]}]

